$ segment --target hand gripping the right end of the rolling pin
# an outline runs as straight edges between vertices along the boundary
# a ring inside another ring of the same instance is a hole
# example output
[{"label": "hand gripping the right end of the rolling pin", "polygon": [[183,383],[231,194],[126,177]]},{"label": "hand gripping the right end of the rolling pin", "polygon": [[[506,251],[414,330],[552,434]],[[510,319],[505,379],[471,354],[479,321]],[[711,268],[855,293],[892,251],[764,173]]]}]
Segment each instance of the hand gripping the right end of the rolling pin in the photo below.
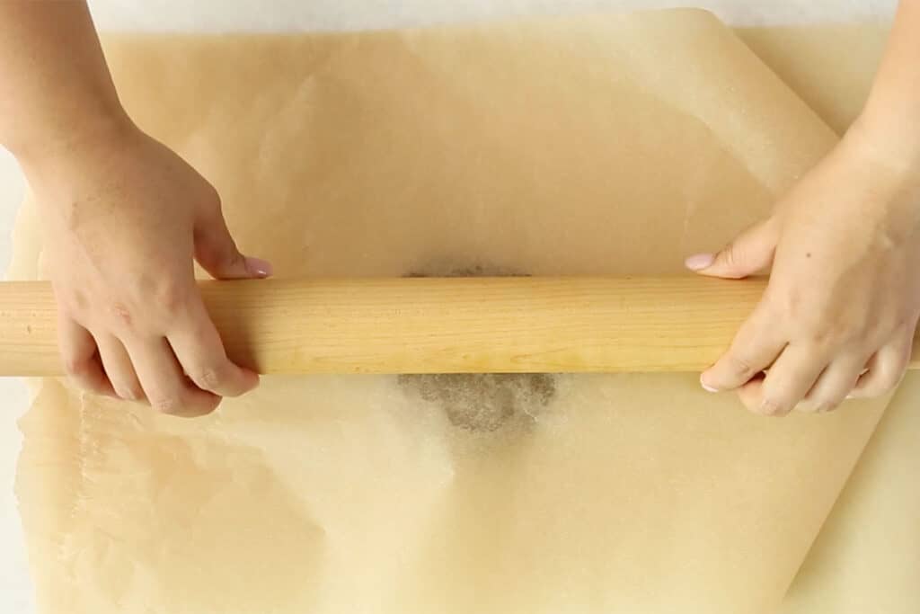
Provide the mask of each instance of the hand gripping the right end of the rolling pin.
[{"label": "hand gripping the right end of the rolling pin", "polygon": [[772,217],[715,256],[687,259],[726,278],[773,265],[704,388],[737,390],[750,410],[778,416],[898,385],[920,316],[920,172],[873,139],[855,127]]}]

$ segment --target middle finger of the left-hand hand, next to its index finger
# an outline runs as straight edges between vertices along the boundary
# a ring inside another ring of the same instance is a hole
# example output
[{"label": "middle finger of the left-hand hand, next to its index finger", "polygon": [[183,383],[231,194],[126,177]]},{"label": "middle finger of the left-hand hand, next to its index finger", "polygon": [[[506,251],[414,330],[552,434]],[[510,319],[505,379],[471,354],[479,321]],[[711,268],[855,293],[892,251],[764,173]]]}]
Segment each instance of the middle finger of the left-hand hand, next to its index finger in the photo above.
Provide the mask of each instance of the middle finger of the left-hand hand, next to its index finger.
[{"label": "middle finger of the left-hand hand, next to its index finger", "polygon": [[130,343],[127,349],[147,401],[156,411],[201,416],[220,403],[220,397],[197,388],[185,377],[166,339]]}]

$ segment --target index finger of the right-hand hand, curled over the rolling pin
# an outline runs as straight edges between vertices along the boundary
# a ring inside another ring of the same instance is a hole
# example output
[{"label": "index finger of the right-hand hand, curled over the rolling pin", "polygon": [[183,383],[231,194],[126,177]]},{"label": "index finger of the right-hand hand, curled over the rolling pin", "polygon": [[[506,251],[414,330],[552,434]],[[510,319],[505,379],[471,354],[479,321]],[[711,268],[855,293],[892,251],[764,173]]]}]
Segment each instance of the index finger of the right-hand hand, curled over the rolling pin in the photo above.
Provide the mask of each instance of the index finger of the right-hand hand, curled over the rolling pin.
[{"label": "index finger of the right-hand hand, curled over the rolling pin", "polygon": [[710,392],[739,388],[773,364],[786,342],[764,313],[759,306],[742,324],[729,351],[700,376],[703,388]]}]

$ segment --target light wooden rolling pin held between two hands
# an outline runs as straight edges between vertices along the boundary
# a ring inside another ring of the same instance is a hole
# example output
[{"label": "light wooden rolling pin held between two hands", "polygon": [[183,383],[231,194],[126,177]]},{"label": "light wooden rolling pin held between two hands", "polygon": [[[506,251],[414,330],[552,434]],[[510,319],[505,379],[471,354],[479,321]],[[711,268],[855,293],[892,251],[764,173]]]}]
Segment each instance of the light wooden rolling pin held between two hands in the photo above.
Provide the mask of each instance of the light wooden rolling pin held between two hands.
[{"label": "light wooden rolling pin held between two hands", "polygon": [[[500,277],[202,282],[264,374],[700,371],[765,280]],[[50,284],[0,284],[0,376],[63,373]],[[911,366],[920,366],[920,340]]]}]

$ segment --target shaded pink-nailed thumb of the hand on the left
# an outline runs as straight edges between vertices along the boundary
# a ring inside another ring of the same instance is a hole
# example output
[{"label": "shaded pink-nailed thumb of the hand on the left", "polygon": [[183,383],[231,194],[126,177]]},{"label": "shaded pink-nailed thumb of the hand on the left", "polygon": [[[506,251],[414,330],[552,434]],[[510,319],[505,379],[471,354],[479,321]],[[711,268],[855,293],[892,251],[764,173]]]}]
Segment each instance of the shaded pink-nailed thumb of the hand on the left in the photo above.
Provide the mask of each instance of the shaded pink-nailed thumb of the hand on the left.
[{"label": "shaded pink-nailed thumb of the hand on the left", "polygon": [[214,279],[248,279],[269,277],[271,264],[244,256],[236,249],[220,207],[202,216],[195,226],[195,260]]}]

